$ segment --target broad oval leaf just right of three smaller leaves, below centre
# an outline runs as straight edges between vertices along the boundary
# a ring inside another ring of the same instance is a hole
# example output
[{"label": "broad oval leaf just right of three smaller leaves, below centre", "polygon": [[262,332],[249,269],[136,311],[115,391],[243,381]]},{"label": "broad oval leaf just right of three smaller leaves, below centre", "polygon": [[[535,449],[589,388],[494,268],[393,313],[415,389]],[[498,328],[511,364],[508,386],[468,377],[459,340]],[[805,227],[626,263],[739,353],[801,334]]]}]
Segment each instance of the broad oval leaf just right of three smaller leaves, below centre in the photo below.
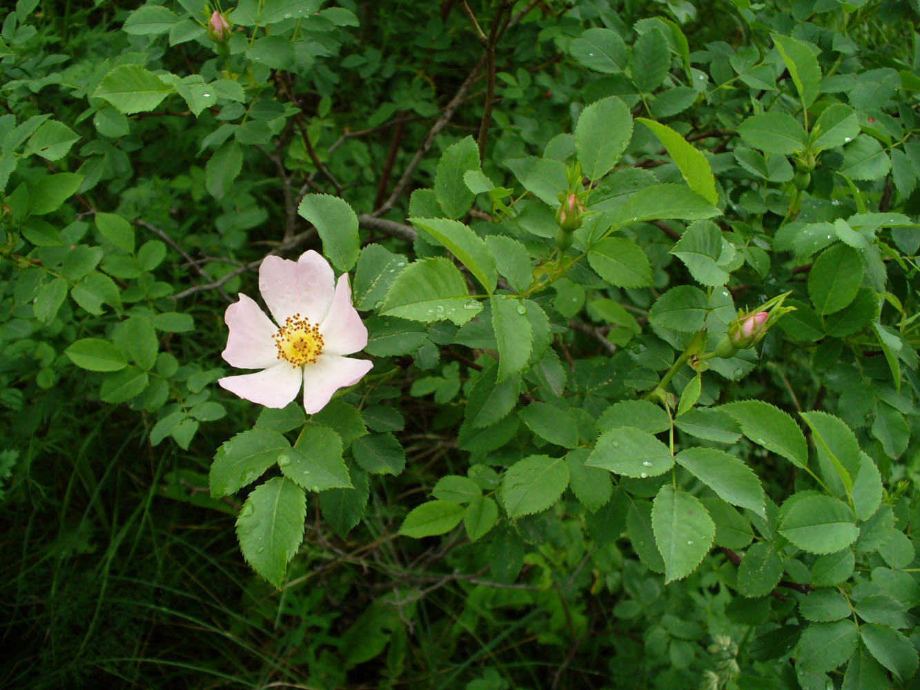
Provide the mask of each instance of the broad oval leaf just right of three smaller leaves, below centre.
[{"label": "broad oval leaf just right of three smaller leaves, below centre", "polygon": [[565,458],[530,455],[505,470],[500,496],[511,517],[540,512],[555,503],[569,486]]}]

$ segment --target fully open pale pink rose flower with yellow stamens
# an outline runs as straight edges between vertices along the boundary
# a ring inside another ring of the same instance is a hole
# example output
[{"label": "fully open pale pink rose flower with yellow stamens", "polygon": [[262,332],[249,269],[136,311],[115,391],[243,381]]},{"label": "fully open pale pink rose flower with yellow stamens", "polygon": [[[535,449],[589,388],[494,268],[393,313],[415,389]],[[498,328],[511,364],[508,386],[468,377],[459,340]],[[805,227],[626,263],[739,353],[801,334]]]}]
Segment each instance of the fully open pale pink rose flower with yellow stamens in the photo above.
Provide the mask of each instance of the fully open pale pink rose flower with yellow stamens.
[{"label": "fully open pale pink rose flower with yellow stamens", "polygon": [[339,388],[355,385],[374,366],[344,356],[367,345],[367,328],[351,305],[348,274],[335,282],[328,261],[312,249],[296,261],[266,257],[259,266],[259,292],[275,323],[240,293],[224,315],[230,334],[222,356],[231,366],[262,371],[219,379],[226,390],[283,408],[303,383],[305,411],[315,414]]}]

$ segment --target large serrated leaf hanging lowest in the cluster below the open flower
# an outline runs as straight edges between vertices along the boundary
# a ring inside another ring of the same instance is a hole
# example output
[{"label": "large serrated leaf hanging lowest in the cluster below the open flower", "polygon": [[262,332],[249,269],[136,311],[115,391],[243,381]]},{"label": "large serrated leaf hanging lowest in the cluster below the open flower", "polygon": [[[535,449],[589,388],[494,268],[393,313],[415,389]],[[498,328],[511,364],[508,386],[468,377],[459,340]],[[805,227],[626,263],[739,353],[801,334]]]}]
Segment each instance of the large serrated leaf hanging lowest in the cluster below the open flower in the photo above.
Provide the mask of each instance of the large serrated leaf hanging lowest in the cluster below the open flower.
[{"label": "large serrated leaf hanging lowest in the cluster below the open flower", "polygon": [[281,589],[288,562],[304,540],[306,497],[290,479],[272,477],[253,489],[236,518],[243,558]]}]

